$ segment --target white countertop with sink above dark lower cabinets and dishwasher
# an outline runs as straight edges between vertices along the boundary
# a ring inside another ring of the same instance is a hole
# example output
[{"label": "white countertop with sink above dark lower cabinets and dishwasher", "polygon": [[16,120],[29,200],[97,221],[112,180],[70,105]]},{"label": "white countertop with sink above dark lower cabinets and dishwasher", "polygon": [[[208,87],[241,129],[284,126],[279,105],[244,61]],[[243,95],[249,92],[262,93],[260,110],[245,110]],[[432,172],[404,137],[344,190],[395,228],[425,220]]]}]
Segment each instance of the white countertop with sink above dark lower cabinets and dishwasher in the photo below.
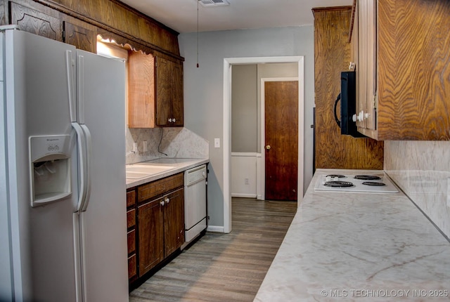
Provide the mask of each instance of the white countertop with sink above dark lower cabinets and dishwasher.
[{"label": "white countertop with sink above dark lower cabinets and dishwasher", "polygon": [[[162,157],[159,159],[150,160],[150,161],[148,161],[148,163],[165,164],[165,166],[174,166],[174,169],[169,170],[169,171],[163,171],[161,173],[155,173],[151,176],[139,178],[139,179],[127,178],[127,189],[136,187],[136,185],[143,185],[144,183],[150,183],[150,181],[153,181],[153,180],[158,180],[160,178],[165,178],[167,176],[171,176],[176,173],[186,171],[195,166],[200,166],[200,164],[206,164],[207,162],[210,162],[210,159]],[[136,164],[141,164],[141,163],[136,163]],[[127,166],[132,166],[132,165],[133,164],[129,164]]]}]

